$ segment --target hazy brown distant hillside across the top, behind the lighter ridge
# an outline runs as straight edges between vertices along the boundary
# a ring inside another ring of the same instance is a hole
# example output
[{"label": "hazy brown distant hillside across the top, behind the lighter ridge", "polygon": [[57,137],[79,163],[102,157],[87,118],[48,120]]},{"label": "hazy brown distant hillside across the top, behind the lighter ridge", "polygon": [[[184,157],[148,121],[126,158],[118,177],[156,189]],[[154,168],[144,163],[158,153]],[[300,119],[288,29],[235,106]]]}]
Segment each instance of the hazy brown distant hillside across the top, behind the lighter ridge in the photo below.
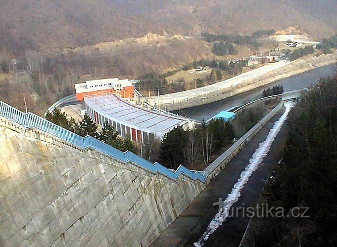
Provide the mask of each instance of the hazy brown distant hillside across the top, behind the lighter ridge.
[{"label": "hazy brown distant hillside across the top, behind the lighter ridge", "polygon": [[141,37],[251,34],[300,26],[313,37],[337,32],[336,0],[0,0],[0,49],[44,54]]}]

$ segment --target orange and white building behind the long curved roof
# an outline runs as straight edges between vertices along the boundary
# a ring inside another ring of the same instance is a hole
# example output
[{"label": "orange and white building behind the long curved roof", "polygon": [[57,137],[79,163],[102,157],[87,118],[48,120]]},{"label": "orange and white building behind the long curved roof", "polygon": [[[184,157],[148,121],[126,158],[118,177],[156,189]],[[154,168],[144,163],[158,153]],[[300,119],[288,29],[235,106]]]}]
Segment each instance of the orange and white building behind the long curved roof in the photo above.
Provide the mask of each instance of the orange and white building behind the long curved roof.
[{"label": "orange and white building behind the long curved roof", "polygon": [[85,83],[75,84],[75,91],[77,100],[106,94],[116,94],[121,98],[129,99],[134,97],[134,86],[128,79],[90,80]]}]

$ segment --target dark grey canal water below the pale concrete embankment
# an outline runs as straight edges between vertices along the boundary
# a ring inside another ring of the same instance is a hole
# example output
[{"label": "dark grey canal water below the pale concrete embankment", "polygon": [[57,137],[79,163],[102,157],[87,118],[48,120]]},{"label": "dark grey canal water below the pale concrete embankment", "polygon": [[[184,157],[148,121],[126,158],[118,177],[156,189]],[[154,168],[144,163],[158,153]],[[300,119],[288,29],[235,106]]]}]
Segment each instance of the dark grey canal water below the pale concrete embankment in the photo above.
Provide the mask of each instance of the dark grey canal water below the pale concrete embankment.
[{"label": "dark grey canal water below the pale concrete embankment", "polygon": [[283,86],[285,92],[298,90],[303,87],[309,88],[314,86],[320,78],[332,76],[335,72],[335,64],[319,67],[277,82],[269,83],[248,92],[240,93],[235,96],[206,105],[183,109],[183,111],[188,118],[195,119],[197,121],[202,121],[202,119],[208,120],[221,111],[226,111],[233,107],[241,106],[250,101],[263,97],[262,91],[268,87],[273,87],[280,84]]}]

